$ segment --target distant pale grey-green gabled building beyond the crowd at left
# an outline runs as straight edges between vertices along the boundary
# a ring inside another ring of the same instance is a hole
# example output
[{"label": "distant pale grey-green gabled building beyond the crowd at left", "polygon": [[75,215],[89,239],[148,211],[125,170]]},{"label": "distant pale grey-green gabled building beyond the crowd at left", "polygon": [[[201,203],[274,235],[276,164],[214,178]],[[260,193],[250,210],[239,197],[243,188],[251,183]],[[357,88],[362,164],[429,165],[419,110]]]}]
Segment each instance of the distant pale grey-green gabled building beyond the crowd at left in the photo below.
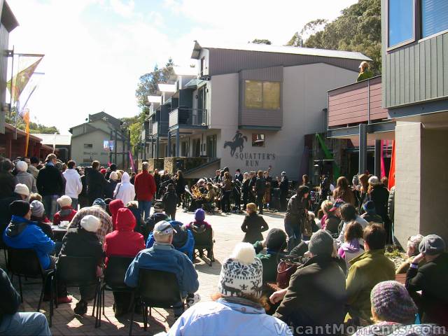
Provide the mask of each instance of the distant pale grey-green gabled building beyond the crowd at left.
[{"label": "distant pale grey-green gabled building beyond the crowd at left", "polygon": [[[129,167],[129,134],[123,123],[107,113],[90,114],[86,122],[71,127],[71,159],[78,165],[90,165],[98,160],[103,166],[109,162],[118,167]],[[123,151],[125,148],[125,151]]]}]

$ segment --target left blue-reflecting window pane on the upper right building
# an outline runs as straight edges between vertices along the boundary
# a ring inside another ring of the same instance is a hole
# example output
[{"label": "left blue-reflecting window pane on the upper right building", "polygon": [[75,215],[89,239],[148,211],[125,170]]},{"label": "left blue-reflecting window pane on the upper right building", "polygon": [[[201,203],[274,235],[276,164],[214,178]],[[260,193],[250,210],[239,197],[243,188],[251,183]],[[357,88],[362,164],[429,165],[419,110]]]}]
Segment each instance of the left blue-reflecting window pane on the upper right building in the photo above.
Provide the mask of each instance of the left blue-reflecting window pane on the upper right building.
[{"label": "left blue-reflecting window pane on the upper right building", "polygon": [[414,0],[388,0],[388,5],[388,47],[413,41]]}]

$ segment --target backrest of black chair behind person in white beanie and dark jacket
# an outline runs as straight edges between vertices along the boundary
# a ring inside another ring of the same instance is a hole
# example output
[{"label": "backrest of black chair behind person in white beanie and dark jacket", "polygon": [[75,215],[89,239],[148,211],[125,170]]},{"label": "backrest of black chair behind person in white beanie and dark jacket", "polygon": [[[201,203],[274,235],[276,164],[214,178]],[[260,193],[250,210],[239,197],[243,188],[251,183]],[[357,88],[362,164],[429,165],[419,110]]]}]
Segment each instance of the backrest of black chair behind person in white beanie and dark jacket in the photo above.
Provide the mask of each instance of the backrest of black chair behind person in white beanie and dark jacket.
[{"label": "backrest of black chair behind person in white beanie and dark jacket", "polygon": [[58,279],[67,286],[89,286],[98,282],[98,260],[93,257],[59,255],[56,272]]}]

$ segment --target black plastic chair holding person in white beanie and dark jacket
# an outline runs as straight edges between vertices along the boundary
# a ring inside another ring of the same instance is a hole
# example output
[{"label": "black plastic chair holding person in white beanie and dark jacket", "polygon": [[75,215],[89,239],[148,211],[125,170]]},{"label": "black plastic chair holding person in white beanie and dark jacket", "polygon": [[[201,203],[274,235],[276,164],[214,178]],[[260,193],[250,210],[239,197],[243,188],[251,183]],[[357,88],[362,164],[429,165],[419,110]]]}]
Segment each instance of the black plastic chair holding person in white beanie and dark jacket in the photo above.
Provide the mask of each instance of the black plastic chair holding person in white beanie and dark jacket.
[{"label": "black plastic chair holding person in white beanie and dark jacket", "polygon": [[58,279],[64,281],[67,287],[96,286],[92,316],[95,313],[95,328],[101,326],[100,307],[102,304],[101,278],[97,276],[98,260],[93,257],[72,257],[59,255],[56,272]]}]

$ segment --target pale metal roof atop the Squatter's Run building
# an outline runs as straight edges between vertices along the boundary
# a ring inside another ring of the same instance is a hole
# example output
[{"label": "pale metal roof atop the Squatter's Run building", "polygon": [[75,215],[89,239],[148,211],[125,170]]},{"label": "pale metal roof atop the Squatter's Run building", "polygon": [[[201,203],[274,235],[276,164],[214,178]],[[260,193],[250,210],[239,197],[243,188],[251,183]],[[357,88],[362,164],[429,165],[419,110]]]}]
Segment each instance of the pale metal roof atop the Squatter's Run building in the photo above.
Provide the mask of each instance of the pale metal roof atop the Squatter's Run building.
[{"label": "pale metal roof atop the Squatter's Run building", "polygon": [[235,44],[235,45],[207,45],[202,46],[195,41],[195,47],[191,58],[198,59],[201,49],[227,49],[227,50],[244,50],[254,52],[274,52],[280,54],[293,54],[293,55],[308,55],[308,56],[321,56],[321,57],[336,57],[345,59],[359,59],[363,61],[371,61],[369,57],[363,55],[360,52],[342,51],[342,50],[327,50],[327,49],[315,49],[315,48],[301,48],[291,47],[287,45],[268,45],[258,43],[247,44]]}]

